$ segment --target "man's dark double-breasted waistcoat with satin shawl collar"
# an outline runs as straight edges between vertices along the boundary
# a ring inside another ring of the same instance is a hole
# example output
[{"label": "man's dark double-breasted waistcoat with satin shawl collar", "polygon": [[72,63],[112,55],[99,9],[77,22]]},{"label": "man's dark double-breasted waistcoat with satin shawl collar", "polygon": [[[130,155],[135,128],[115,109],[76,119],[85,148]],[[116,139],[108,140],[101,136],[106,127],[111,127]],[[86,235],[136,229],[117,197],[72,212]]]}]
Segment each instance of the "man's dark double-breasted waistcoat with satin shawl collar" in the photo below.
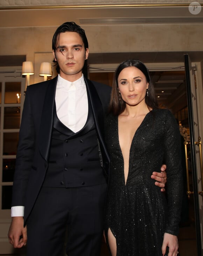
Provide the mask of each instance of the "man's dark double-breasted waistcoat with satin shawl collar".
[{"label": "man's dark double-breasted waistcoat with satin shawl collar", "polygon": [[77,133],[66,127],[54,109],[49,167],[44,187],[80,187],[106,183],[100,165],[98,139],[89,104],[85,126]]}]

